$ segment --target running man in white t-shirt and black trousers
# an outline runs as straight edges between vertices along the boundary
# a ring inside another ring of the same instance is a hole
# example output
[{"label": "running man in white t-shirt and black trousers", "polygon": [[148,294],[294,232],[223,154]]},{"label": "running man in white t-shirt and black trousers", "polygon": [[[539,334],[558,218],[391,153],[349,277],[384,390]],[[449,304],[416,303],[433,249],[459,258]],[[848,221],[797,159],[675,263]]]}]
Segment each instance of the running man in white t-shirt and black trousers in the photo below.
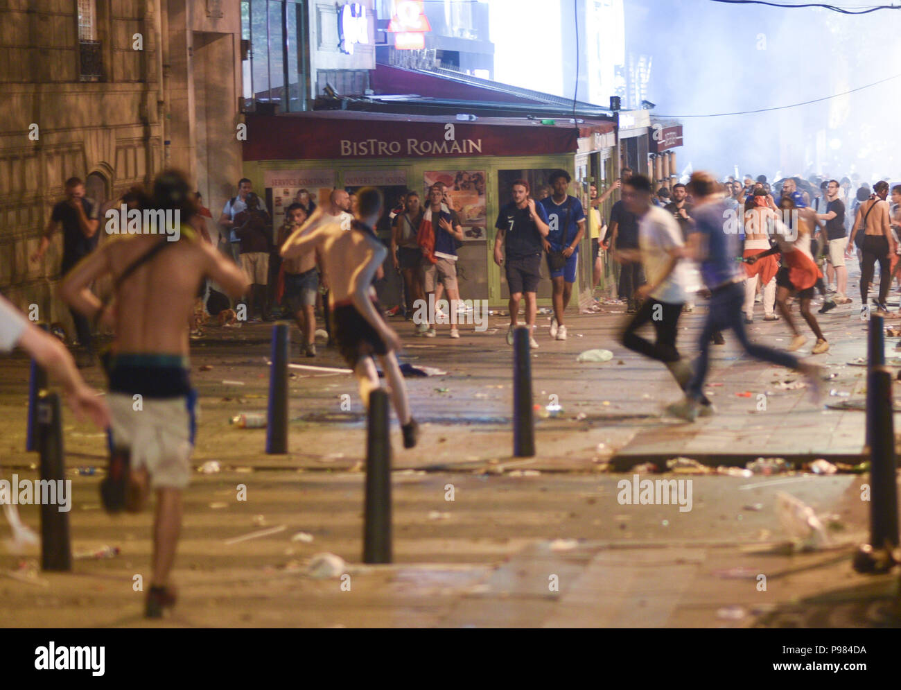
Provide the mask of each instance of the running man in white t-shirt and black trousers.
[{"label": "running man in white t-shirt and black trousers", "polygon": [[[630,213],[639,218],[638,250],[630,261],[644,265],[644,285],[635,297],[642,306],[623,329],[620,342],[639,354],[664,363],[684,391],[691,380],[691,365],[676,349],[678,318],[687,299],[690,276],[685,258],[685,240],[675,218],[651,202],[651,180],[633,175],[623,182],[623,202]],[[632,299],[632,295],[627,296]],[[651,322],[656,341],[646,340],[636,331]],[[701,401],[702,414],[711,414],[710,400]]]}]

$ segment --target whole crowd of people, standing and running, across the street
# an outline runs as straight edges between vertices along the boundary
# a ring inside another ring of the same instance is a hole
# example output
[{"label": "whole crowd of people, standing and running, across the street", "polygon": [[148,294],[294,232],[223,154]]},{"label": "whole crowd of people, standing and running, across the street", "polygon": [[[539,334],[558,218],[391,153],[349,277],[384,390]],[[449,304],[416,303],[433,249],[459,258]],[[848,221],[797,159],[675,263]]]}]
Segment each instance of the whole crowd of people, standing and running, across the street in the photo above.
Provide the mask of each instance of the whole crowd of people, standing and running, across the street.
[{"label": "whole crowd of people, standing and running, across the street", "polygon": [[[551,278],[551,337],[566,340],[579,246],[588,233],[595,278],[603,252],[619,267],[618,297],[629,314],[620,331],[622,345],[663,363],[684,393],[668,407],[670,415],[694,421],[714,414],[704,383],[711,344],[724,343],[724,332],[733,334],[751,357],[805,374],[816,394],[821,367],[795,354],[807,338],[796,326],[790,302],[797,303],[815,335],[811,354],[822,354],[829,342],[812,302],[819,293],[819,313],[851,303],[845,265],[851,252],[856,248],[860,260],[862,313],[888,311],[888,290],[898,276],[901,186],[891,189],[891,206],[885,180],[871,190],[861,185],[856,199],[846,203],[850,189],[845,180],[789,178],[770,188],[762,176],[719,182],[696,172],[687,184],[655,191],[650,179],[627,169],[603,195],[592,185],[586,208],[569,195],[571,179],[565,170],[550,174],[547,194],[538,199],[532,198],[527,180],[516,179],[511,200],[498,213],[493,247],[510,291],[506,342],[513,344],[522,305],[531,346],[539,346],[534,327],[542,262]],[[614,190],[622,198],[605,224],[600,208]],[[402,207],[391,213],[392,235],[386,244],[373,229],[385,210],[377,189],[353,195],[333,189],[318,205],[301,190],[273,233],[249,179],[241,179],[238,194],[216,222],[185,176],[168,170],[152,189],[129,189],[115,203],[176,214],[180,238],[171,242],[144,228],[123,241],[100,243],[100,209],[85,197],[80,179],[67,181],[66,198],[53,208],[32,260],[44,258],[61,227],[59,296],[72,310],[82,354],[94,357],[93,332],[99,325],[114,333],[102,357],[109,392],[105,399],[97,398],[57,341],[29,326],[4,299],[0,349],[22,345],[63,383],[79,415],[108,428],[110,471],[102,484],[108,511],[141,510],[149,492],[157,493],[147,615],[158,616],[175,603],[169,573],[194,446],[196,391],[188,354],[198,300],[211,310],[215,303],[224,309],[244,300],[250,317],[261,319],[271,317],[277,302],[296,318],[307,356],[316,354],[316,305],[321,302],[329,342],[350,366],[367,406],[379,386],[378,359],[404,446],[412,448],[419,425],[396,359],[402,341],[387,323],[374,283],[390,265],[390,256],[403,278],[407,315],[416,300],[445,294],[450,308],[456,308],[463,230],[446,191],[440,182],[432,185],[424,203],[417,192],[406,193]],[[876,263],[878,297],[868,305]],[[103,280],[111,286],[107,296],[92,290]],[[689,359],[678,349],[678,323],[683,312],[695,308],[698,295],[707,300],[707,313],[697,355]],[[764,320],[785,321],[793,336],[787,352],[751,342],[746,326],[753,323],[758,299]],[[414,332],[434,337],[440,321],[432,314]],[[460,337],[453,319],[445,321],[451,338]],[[653,341],[639,335],[649,325]],[[134,404],[136,396],[140,406]]]}]

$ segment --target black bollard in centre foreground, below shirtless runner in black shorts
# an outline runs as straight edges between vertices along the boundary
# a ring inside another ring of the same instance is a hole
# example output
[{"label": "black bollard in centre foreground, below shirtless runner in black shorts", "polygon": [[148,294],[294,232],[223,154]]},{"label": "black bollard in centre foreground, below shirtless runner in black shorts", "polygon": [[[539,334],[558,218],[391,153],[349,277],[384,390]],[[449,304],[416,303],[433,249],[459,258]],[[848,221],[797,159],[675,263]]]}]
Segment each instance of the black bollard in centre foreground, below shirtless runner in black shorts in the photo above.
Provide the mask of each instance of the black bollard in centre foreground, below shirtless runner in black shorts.
[{"label": "black bollard in centre foreground, below shirtless runner in black shorts", "polygon": [[388,394],[380,388],[369,393],[363,520],[363,563],[391,563],[391,438]]}]

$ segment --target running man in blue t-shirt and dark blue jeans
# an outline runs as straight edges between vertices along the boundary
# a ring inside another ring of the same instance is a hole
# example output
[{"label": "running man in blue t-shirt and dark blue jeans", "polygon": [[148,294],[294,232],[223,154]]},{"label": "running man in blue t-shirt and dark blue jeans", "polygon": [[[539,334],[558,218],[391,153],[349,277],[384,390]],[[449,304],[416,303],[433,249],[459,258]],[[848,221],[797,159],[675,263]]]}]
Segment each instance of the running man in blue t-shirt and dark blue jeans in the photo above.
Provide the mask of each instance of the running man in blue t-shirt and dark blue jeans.
[{"label": "running man in blue t-shirt and dark blue jeans", "polygon": [[688,182],[688,193],[695,199],[695,225],[688,235],[688,255],[701,263],[701,278],[710,290],[710,305],[704,329],[698,340],[695,374],[688,382],[684,400],[669,406],[667,411],[675,417],[694,421],[703,399],[704,382],[710,352],[710,337],[714,330],[731,328],[745,352],[763,360],[804,373],[811,391],[818,400],[820,393],[820,367],[801,362],[792,354],[779,352],[748,340],[742,321],[744,276],[737,271],[733,257],[738,253],[733,246],[738,235],[726,234],[723,219],[725,204],[717,198],[716,180],[707,172],[696,172]]}]

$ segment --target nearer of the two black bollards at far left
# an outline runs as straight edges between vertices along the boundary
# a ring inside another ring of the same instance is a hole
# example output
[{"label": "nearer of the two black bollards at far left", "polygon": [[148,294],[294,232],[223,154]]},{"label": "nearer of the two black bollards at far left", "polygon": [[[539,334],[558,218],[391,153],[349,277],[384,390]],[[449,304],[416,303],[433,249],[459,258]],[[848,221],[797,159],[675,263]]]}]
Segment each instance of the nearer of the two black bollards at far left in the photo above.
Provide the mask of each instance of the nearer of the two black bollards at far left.
[{"label": "nearer of the two black bollards at far left", "polygon": [[[44,392],[37,402],[37,443],[41,454],[41,487],[50,487],[57,503],[41,501],[41,570],[68,572],[72,569],[72,547],[68,536],[68,512],[59,510],[57,491],[65,483],[62,417],[59,395]],[[47,484],[44,484],[47,482]],[[71,484],[68,484],[71,486]],[[41,491],[36,488],[35,492]],[[69,496],[71,498],[71,495]],[[35,496],[38,501],[40,496]]]}]

